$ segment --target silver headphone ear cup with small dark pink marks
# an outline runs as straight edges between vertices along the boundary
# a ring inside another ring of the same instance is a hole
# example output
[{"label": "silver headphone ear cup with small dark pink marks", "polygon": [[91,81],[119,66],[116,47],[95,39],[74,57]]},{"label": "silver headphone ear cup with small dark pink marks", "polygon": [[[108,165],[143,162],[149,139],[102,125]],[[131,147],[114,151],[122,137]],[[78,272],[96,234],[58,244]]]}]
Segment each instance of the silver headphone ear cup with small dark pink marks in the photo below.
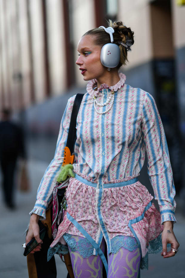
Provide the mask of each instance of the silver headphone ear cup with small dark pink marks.
[{"label": "silver headphone ear cup with small dark pink marks", "polygon": [[119,64],[120,49],[114,43],[107,43],[101,48],[100,60],[107,68],[115,68]]}]

